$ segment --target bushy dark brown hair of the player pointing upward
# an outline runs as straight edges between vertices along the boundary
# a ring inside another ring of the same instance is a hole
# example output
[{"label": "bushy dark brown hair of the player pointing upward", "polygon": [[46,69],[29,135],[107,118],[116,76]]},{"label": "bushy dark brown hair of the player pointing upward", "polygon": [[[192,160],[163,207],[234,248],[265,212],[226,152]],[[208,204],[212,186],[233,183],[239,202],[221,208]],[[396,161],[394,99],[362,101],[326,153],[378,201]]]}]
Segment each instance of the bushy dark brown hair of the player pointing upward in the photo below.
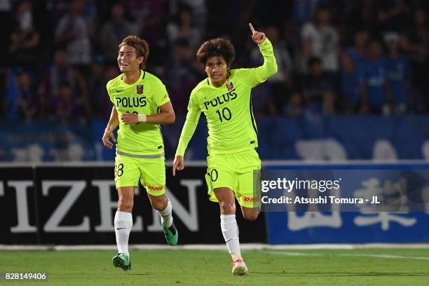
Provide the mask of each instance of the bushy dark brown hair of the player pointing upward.
[{"label": "bushy dark brown hair of the player pointing upward", "polygon": [[232,43],[226,39],[216,38],[210,41],[205,41],[197,51],[198,62],[205,65],[210,57],[220,56],[226,61],[228,67],[236,58],[236,51]]}]

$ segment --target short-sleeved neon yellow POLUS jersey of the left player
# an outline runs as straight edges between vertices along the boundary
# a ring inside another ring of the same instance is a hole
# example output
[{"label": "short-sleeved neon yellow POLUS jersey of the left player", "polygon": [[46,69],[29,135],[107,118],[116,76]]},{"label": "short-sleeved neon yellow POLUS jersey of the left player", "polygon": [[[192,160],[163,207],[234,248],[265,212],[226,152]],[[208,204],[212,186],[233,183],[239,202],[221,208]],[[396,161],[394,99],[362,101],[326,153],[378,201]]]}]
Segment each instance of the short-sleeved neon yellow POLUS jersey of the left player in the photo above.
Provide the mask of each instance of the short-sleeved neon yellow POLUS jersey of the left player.
[{"label": "short-sleeved neon yellow POLUS jersey of the left player", "polygon": [[133,84],[124,83],[123,74],[107,83],[107,93],[119,118],[116,150],[136,155],[161,154],[164,143],[159,125],[143,122],[125,125],[121,121],[121,115],[125,112],[157,114],[158,107],[170,101],[160,79],[147,71],[140,73],[140,78]]}]

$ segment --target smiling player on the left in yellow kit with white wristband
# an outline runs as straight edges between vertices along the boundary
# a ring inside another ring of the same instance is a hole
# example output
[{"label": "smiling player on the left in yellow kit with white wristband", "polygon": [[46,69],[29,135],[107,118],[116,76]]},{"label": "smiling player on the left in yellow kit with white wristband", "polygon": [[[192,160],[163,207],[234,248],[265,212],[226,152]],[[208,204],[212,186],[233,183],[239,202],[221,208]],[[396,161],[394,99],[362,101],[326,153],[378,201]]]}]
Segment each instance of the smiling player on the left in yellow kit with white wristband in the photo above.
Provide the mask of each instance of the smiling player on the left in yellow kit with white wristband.
[{"label": "smiling player on the left in yellow kit with white wristband", "polygon": [[178,233],[172,222],[172,205],[165,196],[165,156],[160,124],[175,122],[175,111],[163,83],[144,70],[149,45],[137,36],[128,36],[118,46],[121,74],[107,83],[114,107],[102,138],[111,149],[116,142],[114,129],[119,125],[116,142],[115,184],[118,210],[114,218],[118,254],[116,267],[131,269],[128,238],[132,228],[134,191],[138,183],[146,188],[152,207],[158,211],[165,239],[177,245]]}]

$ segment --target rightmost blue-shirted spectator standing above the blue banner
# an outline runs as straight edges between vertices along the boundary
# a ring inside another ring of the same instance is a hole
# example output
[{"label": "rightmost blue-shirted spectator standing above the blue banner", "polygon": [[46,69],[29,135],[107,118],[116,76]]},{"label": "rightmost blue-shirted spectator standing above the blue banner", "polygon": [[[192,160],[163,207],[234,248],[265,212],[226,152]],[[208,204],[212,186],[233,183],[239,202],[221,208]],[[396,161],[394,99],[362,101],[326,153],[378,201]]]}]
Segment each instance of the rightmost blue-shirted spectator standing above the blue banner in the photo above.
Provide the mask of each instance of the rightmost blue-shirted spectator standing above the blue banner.
[{"label": "rightmost blue-shirted spectator standing above the blue banner", "polygon": [[388,48],[386,57],[386,77],[392,90],[393,114],[404,114],[409,105],[409,86],[411,71],[406,57],[400,53],[400,36],[395,32],[383,37]]}]

